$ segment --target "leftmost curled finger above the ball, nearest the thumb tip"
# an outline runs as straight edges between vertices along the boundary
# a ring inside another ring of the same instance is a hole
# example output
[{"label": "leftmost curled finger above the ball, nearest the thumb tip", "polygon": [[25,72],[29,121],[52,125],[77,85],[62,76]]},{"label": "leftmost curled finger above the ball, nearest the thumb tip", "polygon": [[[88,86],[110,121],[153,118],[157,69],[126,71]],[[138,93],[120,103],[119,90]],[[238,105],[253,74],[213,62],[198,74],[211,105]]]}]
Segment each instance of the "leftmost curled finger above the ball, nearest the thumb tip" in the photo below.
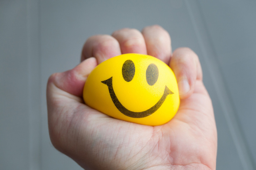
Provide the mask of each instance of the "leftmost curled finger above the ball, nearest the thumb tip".
[{"label": "leftmost curled finger above the ball, nearest the thumb tip", "polygon": [[95,35],[90,37],[83,46],[81,61],[95,57],[99,63],[121,55],[118,41],[110,35]]}]

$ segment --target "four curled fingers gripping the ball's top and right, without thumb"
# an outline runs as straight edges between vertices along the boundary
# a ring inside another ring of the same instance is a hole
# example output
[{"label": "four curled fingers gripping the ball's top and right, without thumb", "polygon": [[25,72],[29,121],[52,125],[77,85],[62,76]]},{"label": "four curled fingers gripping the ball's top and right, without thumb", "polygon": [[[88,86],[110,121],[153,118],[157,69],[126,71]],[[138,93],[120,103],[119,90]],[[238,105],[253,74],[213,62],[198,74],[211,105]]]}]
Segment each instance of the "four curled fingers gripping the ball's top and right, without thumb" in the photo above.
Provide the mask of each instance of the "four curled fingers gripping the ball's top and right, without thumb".
[{"label": "four curled fingers gripping the ball's top and right, without thumb", "polygon": [[170,35],[158,25],[145,27],[142,33],[124,28],[113,32],[112,36],[92,36],[84,44],[81,60],[94,56],[99,64],[125,53],[148,54],[169,63],[177,77],[181,99],[193,93],[196,79],[202,80],[197,55],[189,48],[179,48],[172,56]]}]

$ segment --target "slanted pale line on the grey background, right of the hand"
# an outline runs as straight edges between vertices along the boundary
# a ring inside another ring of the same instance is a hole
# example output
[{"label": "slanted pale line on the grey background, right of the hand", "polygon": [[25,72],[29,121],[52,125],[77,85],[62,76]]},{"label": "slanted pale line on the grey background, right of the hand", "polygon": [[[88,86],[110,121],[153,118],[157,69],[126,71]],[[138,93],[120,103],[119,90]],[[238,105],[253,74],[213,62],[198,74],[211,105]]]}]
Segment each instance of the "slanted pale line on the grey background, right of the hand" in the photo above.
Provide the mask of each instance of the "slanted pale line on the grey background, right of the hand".
[{"label": "slanted pale line on the grey background, right of the hand", "polygon": [[254,165],[252,157],[250,156],[249,150],[246,146],[245,138],[237,120],[236,110],[231,103],[232,101],[228,94],[224,78],[221,74],[221,69],[219,68],[218,60],[216,58],[217,54],[213,47],[199,2],[185,0],[185,4],[242,166],[245,170],[253,170]]}]

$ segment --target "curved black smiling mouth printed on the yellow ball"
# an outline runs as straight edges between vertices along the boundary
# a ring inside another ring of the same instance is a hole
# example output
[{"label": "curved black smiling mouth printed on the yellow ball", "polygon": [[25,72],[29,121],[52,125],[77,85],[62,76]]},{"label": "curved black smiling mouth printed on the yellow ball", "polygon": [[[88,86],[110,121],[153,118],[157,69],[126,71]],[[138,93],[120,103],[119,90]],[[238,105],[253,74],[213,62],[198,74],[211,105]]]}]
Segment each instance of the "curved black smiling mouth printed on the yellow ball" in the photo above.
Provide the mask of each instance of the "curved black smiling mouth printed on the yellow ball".
[{"label": "curved black smiling mouth printed on the yellow ball", "polygon": [[170,91],[170,89],[167,86],[165,86],[165,90],[163,92],[161,99],[159,99],[159,101],[154,106],[152,106],[148,110],[145,110],[142,112],[133,112],[133,111],[130,111],[127,108],[125,108],[117,99],[117,96],[114,92],[113,85],[112,85],[112,77],[105,81],[102,81],[102,83],[104,83],[108,86],[110,97],[111,97],[114,105],[116,106],[116,108],[121,113],[123,113],[124,115],[129,116],[131,118],[144,118],[144,117],[147,117],[147,116],[153,114],[163,104],[163,102],[165,101],[166,97],[169,94],[174,94],[172,91]]}]

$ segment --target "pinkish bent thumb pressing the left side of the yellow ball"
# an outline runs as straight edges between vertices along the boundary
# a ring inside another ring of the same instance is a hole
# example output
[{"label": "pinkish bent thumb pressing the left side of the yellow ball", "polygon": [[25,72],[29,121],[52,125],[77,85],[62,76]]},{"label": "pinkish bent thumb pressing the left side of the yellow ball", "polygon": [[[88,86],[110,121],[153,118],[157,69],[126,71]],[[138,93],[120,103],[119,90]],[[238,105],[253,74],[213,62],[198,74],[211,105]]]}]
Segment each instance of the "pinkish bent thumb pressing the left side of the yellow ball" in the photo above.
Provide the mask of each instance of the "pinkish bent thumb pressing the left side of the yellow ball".
[{"label": "pinkish bent thumb pressing the left side of the yellow ball", "polygon": [[[90,72],[97,66],[95,58],[84,60],[72,70],[55,73],[48,80],[47,92],[52,88],[59,88],[71,95],[81,97],[83,94],[83,86]],[[50,93],[49,94],[53,94]]]}]

